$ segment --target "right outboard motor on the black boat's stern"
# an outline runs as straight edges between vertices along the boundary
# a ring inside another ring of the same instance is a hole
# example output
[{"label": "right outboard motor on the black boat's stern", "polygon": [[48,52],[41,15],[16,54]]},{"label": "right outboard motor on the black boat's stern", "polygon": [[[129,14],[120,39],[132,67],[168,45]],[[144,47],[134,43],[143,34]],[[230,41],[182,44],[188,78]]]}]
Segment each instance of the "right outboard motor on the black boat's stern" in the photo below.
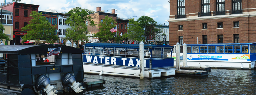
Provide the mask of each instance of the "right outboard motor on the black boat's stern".
[{"label": "right outboard motor on the black boat's stern", "polygon": [[82,92],[84,89],[81,85],[81,83],[76,82],[75,76],[73,76],[70,73],[66,73],[63,77],[62,77],[62,82],[65,86],[70,86],[76,93]]}]

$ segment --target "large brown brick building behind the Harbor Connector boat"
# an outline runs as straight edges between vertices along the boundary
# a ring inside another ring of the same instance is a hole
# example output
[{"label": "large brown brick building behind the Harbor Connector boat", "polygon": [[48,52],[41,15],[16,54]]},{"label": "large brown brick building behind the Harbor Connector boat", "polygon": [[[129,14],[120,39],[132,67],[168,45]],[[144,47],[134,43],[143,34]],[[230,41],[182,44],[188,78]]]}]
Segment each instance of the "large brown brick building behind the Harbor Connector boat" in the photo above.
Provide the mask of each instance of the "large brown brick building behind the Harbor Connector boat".
[{"label": "large brown brick building behind the Harbor Connector boat", "polygon": [[256,0],[170,0],[170,45],[197,40],[256,42]]}]

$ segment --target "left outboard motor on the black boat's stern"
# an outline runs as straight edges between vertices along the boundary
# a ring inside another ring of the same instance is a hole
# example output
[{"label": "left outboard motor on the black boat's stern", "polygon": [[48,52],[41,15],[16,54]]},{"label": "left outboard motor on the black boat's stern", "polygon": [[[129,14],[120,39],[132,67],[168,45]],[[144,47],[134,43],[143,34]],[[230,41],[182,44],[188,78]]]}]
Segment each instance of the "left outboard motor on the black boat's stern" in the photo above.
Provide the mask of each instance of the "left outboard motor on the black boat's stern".
[{"label": "left outboard motor on the black boat's stern", "polygon": [[45,75],[40,75],[35,81],[35,88],[37,91],[43,89],[47,95],[57,95],[57,90],[54,90],[54,86],[50,84],[50,78]]}]

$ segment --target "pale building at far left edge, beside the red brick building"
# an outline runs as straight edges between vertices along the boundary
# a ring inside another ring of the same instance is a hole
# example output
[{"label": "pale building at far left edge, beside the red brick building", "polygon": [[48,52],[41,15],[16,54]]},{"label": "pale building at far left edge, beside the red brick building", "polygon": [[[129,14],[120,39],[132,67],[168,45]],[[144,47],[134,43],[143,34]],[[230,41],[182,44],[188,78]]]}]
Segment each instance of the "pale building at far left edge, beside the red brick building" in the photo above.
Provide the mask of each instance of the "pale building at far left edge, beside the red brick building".
[{"label": "pale building at far left edge, beside the red brick building", "polygon": [[[0,11],[2,15],[0,15],[1,23],[3,24],[4,34],[9,36],[11,41],[2,41],[5,45],[10,45],[13,41],[12,31],[13,31],[13,13],[7,10]],[[2,39],[5,40],[5,39]]]}]

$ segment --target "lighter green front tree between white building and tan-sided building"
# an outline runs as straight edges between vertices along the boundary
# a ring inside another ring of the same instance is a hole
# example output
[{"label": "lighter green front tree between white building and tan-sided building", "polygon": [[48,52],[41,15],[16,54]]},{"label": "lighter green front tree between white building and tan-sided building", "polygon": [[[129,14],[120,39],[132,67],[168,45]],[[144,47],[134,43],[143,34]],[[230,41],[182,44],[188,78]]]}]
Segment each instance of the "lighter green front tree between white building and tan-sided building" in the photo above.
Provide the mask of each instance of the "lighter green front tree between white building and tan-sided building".
[{"label": "lighter green front tree between white building and tan-sided building", "polygon": [[[65,39],[71,40],[78,44],[79,40],[85,41],[90,37],[86,34],[87,26],[84,20],[78,14],[72,13],[66,23],[70,24],[70,27],[66,29],[67,34]],[[78,44],[79,45],[79,44]]]}]

